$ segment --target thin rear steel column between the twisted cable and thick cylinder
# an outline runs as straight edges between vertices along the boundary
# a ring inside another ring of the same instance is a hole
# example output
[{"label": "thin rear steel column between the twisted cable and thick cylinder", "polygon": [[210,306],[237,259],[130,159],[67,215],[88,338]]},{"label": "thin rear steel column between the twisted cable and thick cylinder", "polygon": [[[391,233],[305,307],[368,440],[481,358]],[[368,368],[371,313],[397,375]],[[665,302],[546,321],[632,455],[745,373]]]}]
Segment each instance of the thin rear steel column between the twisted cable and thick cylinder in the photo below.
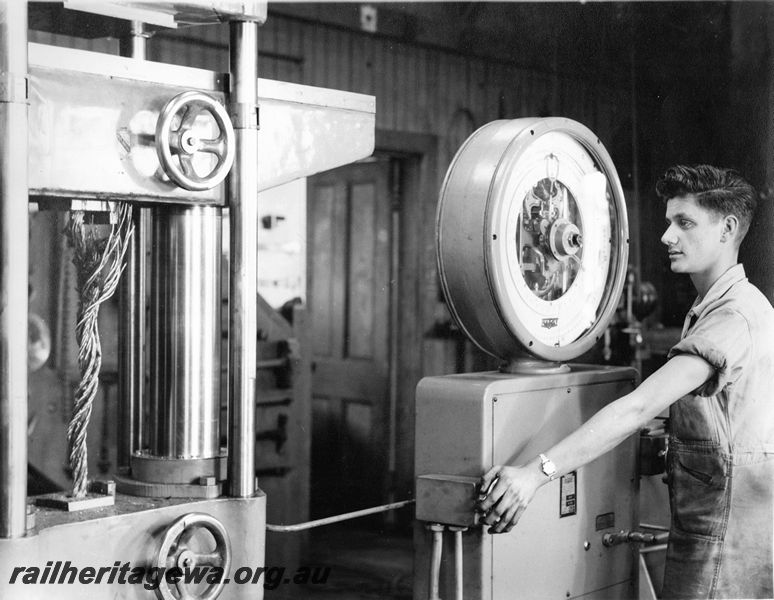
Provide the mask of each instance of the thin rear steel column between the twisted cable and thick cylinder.
[{"label": "thin rear steel column between the twisted cable and thick cylinder", "polygon": [[[140,21],[133,21],[131,33],[122,38],[122,56],[145,60],[147,34]],[[134,234],[126,251],[126,269],[121,278],[118,336],[118,432],[117,462],[128,467],[129,458],[139,448],[142,429],[141,402],[145,383],[145,249],[147,208],[135,206],[132,212]]]}]

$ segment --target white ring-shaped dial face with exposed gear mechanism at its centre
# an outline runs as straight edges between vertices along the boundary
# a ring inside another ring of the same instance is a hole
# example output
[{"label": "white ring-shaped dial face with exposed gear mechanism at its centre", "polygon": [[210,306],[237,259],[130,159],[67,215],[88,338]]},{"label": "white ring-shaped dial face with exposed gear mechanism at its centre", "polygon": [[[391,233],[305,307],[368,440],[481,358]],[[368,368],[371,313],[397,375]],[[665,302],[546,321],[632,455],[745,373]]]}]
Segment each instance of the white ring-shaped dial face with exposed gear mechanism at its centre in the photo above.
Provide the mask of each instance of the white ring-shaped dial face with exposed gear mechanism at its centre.
[{"label": "white ring-shaped dial face with exposed gear mechanism at its centre", "polygon": [[[534,140],[493,211],[499,304],[522,342],[572,344],[600,318],[612,285],[616,215],[607,177],[570,135]],[[503,240],[500,242],[499,240]]]}]

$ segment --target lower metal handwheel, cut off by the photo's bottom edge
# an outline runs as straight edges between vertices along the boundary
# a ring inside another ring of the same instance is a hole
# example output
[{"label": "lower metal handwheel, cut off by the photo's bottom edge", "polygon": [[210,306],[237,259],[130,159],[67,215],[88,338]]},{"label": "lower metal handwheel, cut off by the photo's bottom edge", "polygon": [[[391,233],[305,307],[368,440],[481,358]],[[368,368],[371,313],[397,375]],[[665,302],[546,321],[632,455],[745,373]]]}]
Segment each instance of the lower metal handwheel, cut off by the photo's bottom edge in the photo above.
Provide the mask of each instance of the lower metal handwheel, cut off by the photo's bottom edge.
[{"label": "lower metal handwheel, cut off by the photo's bottom edge", "polygon": [[[202,529],[212,536],[215,547],[202,551],[201,543],[192,544],[192,540]],[[191,572],[194,567],[218,567],[223,577],[217,583],[209,584],[203,590],[191,590],[185,577],[174,584],[176,593],[170,587],[166,576],[159,581],[156,595],[162,600],[215,600],[225,585],[225,577],[231,567],[231,542],[226,528],[215,517],[204,513],[188,513],[178,518],[164,532],[156,556],[156,567],[166,574],[178,567],[182,573]],[[204,578],[204,581],[207,577]],[[201,584],[200,584],[201,585]]]}]

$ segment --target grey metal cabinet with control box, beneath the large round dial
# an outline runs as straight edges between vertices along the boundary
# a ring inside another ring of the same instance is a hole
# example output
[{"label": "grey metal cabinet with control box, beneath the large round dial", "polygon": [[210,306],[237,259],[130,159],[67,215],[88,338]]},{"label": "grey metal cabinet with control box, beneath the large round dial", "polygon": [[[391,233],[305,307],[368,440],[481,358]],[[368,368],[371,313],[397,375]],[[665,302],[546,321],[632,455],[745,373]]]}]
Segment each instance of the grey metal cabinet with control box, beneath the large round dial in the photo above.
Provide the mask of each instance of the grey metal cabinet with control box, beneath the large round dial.
[{"label": "grey metal cabinet with control box, beneath the large round dial", "polygon": [[633,597],[633,552],[606,547],[603,537],[636,523],[636,437],[538,490],[510,533],[489,534],[473,504],[476,482],[493,465],[545,452],[630,392],[636,377],[629,368],[570,365],[554,374],[423,379],[416,397],[414,598],[428,598],[434,585],[441,598],[461,591],[466,600]]}]

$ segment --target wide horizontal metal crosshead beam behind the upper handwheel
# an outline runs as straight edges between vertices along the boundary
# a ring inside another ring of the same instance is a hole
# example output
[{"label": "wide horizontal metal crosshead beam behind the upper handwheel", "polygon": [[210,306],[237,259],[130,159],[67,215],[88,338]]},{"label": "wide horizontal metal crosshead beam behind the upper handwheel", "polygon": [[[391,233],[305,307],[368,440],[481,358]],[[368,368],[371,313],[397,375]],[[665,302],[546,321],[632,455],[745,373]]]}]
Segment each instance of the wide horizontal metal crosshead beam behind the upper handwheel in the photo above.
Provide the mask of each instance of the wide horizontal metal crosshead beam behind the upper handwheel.
[{"label": "wide horizontal metal crosshead beam behind the upper handwheel", "polygon": [[[30,65],[30,114],[41,124],[30,131],[33,196],[228,203],[226,186],[189,192],[158,177],[152,140],[171,98],[196,89],[229,102],[233,73],[37,44],[30,45]],[[262,126],[252,170],[259,190],[373,152],[372,96],[264,79],[255,85]]]}]

